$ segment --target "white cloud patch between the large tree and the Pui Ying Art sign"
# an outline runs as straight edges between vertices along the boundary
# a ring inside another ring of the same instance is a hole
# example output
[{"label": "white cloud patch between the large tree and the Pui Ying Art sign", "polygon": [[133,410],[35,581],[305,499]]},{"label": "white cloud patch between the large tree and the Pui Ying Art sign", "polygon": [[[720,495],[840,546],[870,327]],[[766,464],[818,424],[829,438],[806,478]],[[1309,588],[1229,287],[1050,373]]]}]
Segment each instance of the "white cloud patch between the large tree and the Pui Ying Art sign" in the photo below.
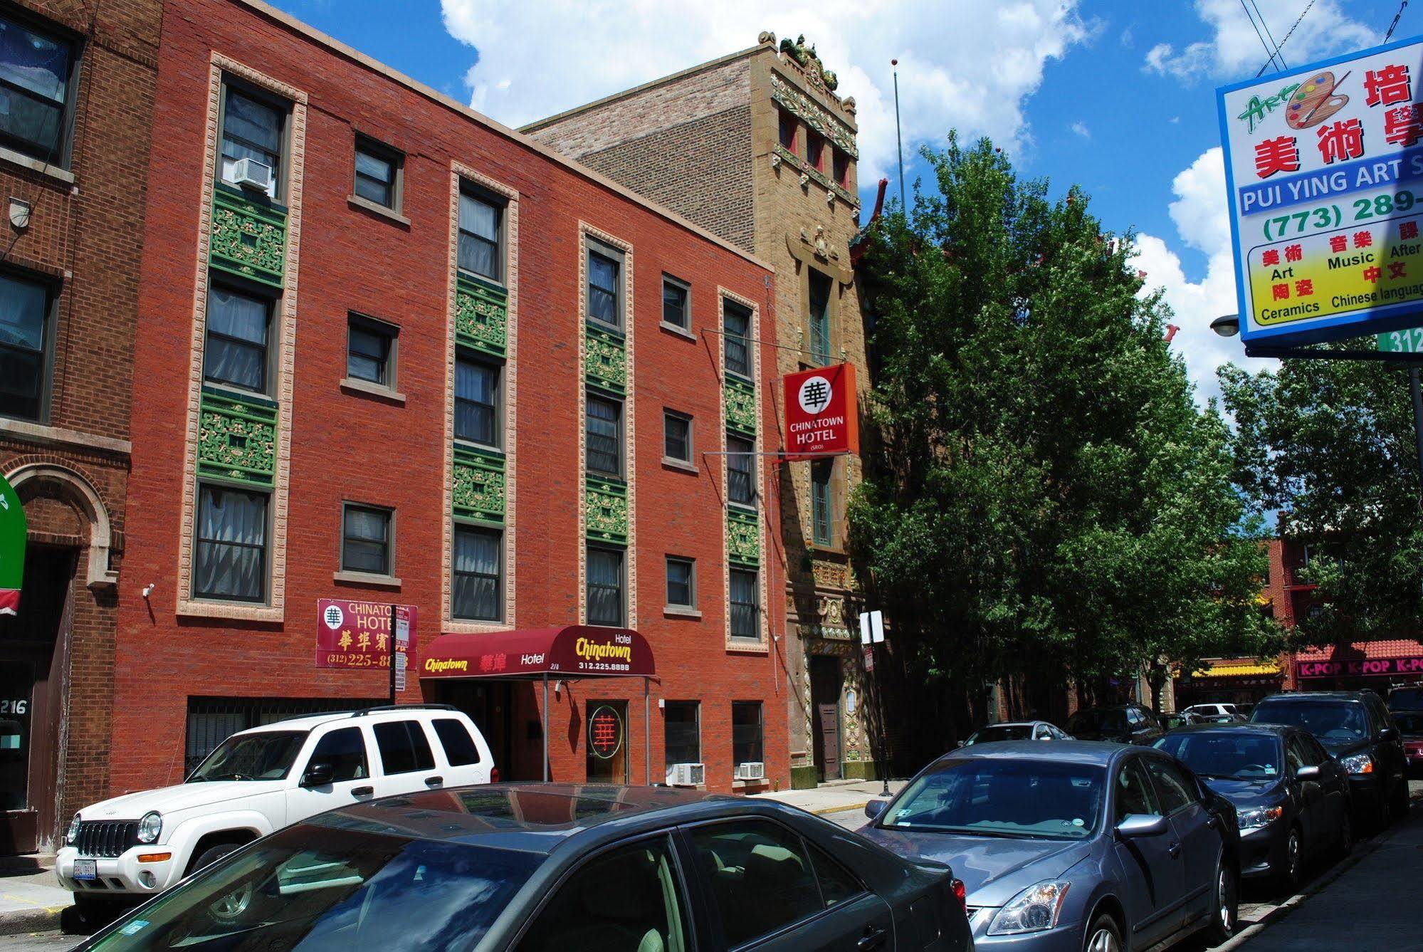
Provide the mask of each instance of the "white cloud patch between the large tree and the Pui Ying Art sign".
[{"label": "white cloud patch between the large tree and the Pui Ying Art sign", "polygon": [[[1137,236],[1136,266],[1147,273],[1143,295],[1165,290],[1171,323],[1177,332],[1171,346],[1185,359],[1204,403],[1220,396],[1215,369],[1224,363],[1245,363],[1239,337],[1221,337],[1211,322],[1239,310],[1235,296],[1235,263],[1231,250],[1231,225],[1225,205],[1225,162],[1220,147],[1207,149],[1171,182],[1175,201],[1171,221],[1177,236],[1205,256],[1205,275],[1198,282],[1187,279],[1181,256],[1155,235]],[[1266,361],[1248,361],[1268,366]]]}]

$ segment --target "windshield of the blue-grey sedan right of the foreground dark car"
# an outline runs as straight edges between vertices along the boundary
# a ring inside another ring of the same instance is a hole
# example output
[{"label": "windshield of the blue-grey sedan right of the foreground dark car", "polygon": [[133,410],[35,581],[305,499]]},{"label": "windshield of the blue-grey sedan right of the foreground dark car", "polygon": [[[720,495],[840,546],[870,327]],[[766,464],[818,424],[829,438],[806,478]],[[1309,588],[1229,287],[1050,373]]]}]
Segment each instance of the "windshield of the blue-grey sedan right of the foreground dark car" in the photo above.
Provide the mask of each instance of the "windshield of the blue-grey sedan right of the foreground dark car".
[{"label": "windshield of the blue-grey sedan right of the foreground dark car", "polygon": [[1103,771],[1091,764],[970,757],[915,780],[881,827],[978,837],[1084,840],[1097,825]]}]

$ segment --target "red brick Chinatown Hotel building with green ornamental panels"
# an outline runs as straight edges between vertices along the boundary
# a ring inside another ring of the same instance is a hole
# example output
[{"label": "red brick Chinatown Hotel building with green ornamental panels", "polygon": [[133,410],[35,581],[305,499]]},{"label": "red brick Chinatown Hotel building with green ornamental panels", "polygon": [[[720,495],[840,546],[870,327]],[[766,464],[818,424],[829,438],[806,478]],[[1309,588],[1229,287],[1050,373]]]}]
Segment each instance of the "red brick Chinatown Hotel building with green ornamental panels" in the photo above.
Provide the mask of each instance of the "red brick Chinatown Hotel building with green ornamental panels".
[{"label": "red brick Chinatown Hotel building with green ornamental panels", "polygon": [[558,780],[670,747],[785,786],[771,270],[265,4],[165,9],[112,790],[379,703],[379,667],[314,665],[323,598],[416,606],[400,700],[468,710],[505,778],[541,773],[539,699],[421,680],[440,633],[647,639],[650,763],[642,683],[568,680]]}]

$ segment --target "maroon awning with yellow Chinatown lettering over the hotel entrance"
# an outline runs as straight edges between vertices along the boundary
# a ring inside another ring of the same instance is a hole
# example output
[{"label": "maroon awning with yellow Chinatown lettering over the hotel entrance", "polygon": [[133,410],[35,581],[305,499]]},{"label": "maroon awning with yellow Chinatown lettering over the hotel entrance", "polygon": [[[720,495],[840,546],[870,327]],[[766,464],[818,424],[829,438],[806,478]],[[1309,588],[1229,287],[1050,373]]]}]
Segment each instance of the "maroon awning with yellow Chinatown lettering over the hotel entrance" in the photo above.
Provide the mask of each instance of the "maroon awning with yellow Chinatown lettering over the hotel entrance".
[{"label": "maroon awning with yellow Chinatown lettering over the hotel entrance", "polygon": [[630,628],[565,625],[438,635],[420,649],[421,677],[653,677],[652,649]]}]

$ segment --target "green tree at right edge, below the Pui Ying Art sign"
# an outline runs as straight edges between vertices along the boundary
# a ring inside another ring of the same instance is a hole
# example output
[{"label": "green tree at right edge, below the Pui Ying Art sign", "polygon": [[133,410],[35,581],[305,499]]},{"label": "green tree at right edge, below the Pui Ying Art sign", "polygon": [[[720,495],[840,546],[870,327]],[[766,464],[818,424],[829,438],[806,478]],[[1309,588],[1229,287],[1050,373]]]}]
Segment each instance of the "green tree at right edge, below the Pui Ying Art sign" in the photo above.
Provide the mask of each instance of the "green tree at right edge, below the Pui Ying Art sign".
[{"label": "green tree at right edge, below the Pui Ying Art sign", "polygon": [[[1340,344],[1358,347],[1359,342]],[[1220,371],[1235,418],[1237,478],[1279,531],[1311,544],[1316,613],[1296,643],[1416,636],[1423,517],[1406,371],[1362,360],[1291,359]]]}]

